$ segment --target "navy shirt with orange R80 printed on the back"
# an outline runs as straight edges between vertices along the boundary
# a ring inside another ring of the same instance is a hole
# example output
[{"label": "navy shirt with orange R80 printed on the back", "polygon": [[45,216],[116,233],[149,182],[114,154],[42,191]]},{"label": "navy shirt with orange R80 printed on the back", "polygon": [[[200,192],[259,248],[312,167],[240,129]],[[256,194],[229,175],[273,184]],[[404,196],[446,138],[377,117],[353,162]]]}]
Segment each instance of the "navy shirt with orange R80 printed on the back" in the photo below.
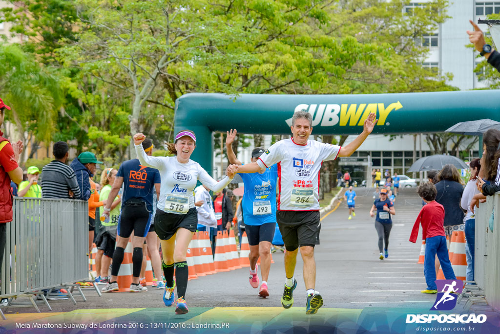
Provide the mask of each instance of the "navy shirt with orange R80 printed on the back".
[{"label": "navy shirt with orange R80 printed on the back", "polygon": [[154,184],[161,182],[158,170],[140,165],[139,159],[132,159],[121,164],[116,176],[123,178],[121,203],[140,198],[146,202],[147,211],[153,211]]}]

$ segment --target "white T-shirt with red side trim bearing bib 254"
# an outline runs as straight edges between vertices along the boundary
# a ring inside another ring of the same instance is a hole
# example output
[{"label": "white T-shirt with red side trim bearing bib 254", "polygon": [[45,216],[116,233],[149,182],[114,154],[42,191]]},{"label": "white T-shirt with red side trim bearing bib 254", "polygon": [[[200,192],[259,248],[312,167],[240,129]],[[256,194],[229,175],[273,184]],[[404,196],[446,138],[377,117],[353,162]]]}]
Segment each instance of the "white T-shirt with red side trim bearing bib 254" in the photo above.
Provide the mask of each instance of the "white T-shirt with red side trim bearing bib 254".
[{"label": "white T-shirt with red side trim bearing bib 254", "polygon": [[298,145],[280,140],[260,156],[260,168],[278,164],[278,210],[319,210],[319,170],[323,161],[334,160],[340,146],[308,140]]}]

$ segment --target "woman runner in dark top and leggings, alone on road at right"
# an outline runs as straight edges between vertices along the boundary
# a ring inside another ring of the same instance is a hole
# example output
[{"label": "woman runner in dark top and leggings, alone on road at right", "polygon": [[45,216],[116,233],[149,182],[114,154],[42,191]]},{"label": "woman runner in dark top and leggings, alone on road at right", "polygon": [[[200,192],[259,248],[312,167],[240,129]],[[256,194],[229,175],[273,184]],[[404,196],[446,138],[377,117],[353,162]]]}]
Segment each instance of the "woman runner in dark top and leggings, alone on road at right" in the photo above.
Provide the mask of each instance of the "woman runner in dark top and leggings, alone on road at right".
[{"label": "woman runner in dark top and leggings, alone on road at right", "polygon": [[[395,215],[394,205],[392,201],[387,198],[387,189],[380,190],[380,198],[375,199],[373,206],[370,210],[370,216],[375,218],[375,229],[378,233],[378,250],[380,251],[380,260],[383,260],[384,256],[389,256],[387,247],[389,246],[389,234],[392,228],[392,220],[390,215]],[[382,241],[384,241],[384,248],[382,252]]]}]

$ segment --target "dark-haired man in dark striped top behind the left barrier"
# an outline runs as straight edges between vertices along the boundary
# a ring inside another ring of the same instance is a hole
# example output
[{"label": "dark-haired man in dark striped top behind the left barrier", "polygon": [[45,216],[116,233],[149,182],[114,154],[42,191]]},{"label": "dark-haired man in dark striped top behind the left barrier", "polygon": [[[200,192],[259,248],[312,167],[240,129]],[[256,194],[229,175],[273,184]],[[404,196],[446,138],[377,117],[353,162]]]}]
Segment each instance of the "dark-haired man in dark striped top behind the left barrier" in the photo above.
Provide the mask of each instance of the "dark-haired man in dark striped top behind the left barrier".
[{"label": "dark-haired man in dark striped top behind the left barrier", "polygon": [[74,171],[66,165],[69,146],[65,142],[56,142],[52,147],[52,160],[41,169],[41,192],[43,198],[81,197]]}]

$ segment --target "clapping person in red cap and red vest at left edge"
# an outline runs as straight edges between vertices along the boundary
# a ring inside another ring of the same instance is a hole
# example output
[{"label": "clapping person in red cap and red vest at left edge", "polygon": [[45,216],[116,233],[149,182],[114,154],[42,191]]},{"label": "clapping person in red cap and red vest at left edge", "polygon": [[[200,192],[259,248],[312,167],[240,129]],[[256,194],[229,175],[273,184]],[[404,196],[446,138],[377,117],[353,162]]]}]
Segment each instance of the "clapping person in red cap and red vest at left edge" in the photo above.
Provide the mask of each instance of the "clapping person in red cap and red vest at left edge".
[{"label": "clapping person in red cap and red vest at left edge", "polygon": [[[0,99],[0,126],[5,117],[5,109],[10,110],[10,107]],[[20,140],[10,144],[8,139],[3,138],[3,133],[0,131],[0,268],[7,241],[6,223],[12,221],[12,189],[10,188],[10,182],[20,183],[22,181],[22,169],[17,165],[22,148],[23,144]]]}]

